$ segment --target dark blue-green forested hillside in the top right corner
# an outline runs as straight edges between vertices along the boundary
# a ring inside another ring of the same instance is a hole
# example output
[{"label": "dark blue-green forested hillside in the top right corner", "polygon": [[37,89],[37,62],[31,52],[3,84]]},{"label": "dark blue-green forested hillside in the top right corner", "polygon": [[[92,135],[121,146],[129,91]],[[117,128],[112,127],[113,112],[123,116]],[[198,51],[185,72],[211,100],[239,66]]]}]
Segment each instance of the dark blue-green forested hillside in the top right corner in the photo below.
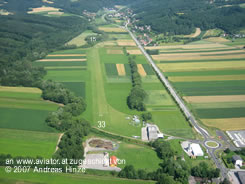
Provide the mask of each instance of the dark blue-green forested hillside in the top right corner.
[{"label": "dark blue-green forested hillside in the top right corner", "polygon": [[132,5],[138,25],[151,25],[153,31],[172,35],[190,34],[220,28],[234,33],[245,27],[244,1],[141,0]]}]

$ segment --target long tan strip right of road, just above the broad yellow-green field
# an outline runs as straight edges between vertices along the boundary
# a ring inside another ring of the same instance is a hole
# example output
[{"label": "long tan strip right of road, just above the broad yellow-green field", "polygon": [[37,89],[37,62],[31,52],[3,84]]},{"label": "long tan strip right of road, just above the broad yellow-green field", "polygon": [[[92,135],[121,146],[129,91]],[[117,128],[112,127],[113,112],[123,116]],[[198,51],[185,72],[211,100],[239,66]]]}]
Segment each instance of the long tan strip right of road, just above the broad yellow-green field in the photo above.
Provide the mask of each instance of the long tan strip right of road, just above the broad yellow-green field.
[{"label": "long tan strip right of road, just above the broad yellow-green field", "polygon": [[[240,51],[241,52],[241,51]],[[210,54],[210,53],[209,53]],[[217,53],[216,53],[217,54]],[[160,55],[152,55],[152,58],[156,61],[183,61],[183,60],[212,60],[212,59],[235,59],[235,58],[245,58],[244,54],[237,55],[200,55],[200,54],[192,54],[192,53],[181,53],[181,54],[160,54]]]}]

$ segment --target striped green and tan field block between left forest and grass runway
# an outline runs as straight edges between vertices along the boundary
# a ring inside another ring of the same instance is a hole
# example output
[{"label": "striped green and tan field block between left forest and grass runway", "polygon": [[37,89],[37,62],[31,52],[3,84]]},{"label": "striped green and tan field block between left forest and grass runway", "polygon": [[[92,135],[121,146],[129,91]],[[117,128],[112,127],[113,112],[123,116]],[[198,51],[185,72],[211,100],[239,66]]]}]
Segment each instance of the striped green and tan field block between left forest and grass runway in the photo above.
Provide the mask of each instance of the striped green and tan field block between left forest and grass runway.
[{"label": "striped green and tan field block between left forest and grass runway", "polygon": [[87,71],[86,51],[83,49],[62,50],[34,62],[47,70],[45,79],[63,83],[77,96],[85,97]]}]

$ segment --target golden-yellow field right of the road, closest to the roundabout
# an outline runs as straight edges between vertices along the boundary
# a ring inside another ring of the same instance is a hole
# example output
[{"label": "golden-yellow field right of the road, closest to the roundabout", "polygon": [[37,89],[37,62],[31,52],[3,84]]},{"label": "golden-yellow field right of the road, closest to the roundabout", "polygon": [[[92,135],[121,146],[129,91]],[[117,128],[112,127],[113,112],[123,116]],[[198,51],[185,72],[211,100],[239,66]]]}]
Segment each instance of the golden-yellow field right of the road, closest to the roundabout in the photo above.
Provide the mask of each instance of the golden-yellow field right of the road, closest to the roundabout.
[{"label": "golden-yellow field right of the road, closest to the roundabout", "polygon": [[245,118],[201,119],[201,121],[207,126],[221,130],[244,130],[245,128]]}]

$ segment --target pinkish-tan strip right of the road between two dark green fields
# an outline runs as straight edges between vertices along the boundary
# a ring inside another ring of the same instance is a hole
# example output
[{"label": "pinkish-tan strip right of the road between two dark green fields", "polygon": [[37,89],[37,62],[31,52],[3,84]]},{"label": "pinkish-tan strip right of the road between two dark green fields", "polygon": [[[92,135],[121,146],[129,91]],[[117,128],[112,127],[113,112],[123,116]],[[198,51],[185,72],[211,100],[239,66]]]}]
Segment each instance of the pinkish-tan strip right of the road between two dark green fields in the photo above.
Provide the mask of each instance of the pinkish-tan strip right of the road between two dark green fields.
[{"label": "pinkish-tan strip right of the road between two dark green fields", "polygon": [[245,95],[184,96],[189,103],[245,102]]}]

